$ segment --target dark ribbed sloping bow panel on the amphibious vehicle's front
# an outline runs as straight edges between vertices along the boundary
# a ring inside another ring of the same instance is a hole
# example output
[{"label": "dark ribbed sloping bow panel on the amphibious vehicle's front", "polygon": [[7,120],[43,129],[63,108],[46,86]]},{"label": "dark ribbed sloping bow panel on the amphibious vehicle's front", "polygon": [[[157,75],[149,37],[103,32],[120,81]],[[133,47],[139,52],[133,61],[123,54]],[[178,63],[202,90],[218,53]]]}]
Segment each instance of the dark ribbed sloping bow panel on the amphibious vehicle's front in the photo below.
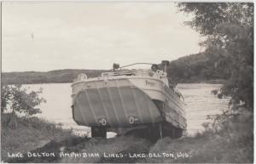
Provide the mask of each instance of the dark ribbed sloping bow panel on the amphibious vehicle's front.
[{"label": "dark ribbed sloping bow panel on the amphibious vehicle's front", "polygon": [[148,95],[130,86],[80,91],[74,98],[73,119],[90,127],[132,127],[162,121]]}]

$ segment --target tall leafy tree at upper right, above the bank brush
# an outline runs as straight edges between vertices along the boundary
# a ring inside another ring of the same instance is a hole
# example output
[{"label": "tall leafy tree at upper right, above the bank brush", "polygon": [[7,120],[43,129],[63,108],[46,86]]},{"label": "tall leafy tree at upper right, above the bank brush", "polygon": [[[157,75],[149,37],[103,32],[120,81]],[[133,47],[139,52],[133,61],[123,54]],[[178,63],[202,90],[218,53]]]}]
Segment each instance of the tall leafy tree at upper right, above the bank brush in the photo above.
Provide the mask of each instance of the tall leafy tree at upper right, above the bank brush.
[{"label": "tall leafy tree at upper right, above the bank brush", "polygon": [[201,42],[205,54],[229,78],[220,95],[231,96],[232,110],[253,111],[253,3],[178,3],[178,8],[193,14],[185,24],[207,37]]}]

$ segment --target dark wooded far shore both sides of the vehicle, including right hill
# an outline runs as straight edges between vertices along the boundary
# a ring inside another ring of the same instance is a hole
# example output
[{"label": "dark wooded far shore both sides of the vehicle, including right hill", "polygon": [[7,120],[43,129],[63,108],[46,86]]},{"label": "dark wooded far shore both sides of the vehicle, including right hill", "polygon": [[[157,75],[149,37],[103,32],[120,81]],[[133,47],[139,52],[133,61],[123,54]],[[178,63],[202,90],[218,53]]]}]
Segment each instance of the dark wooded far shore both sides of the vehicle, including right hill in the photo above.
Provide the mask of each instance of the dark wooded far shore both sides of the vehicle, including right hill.
[{"label": "dark wooded far shore both sides of the vehicle, including right hill", "polygon": [[[190,54],[172,60],[167,67],[167,73],[176,82],[212,82],[216,79],[226,79],[226,73],[218,71],[214,65],[215,60],[205,53]],[[66,69],[47,72],[3,72],[2,82],[3,84],[65,83],[73,82],[73,79],[81,73],[95,77],[100,76],[103,71]]]}]

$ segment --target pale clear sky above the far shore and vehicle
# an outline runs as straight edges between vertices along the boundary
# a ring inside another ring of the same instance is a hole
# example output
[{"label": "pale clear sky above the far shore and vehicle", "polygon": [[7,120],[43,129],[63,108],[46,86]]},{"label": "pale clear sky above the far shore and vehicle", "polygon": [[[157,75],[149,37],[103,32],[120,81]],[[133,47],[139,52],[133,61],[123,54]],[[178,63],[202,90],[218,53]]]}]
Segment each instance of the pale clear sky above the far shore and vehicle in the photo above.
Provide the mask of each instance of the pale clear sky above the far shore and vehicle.
[{"label": "pale clear sky above the far shore and vehicle", "polygon": [[2,71],[111,69],[201,51],[175,3],[3,3]]}]

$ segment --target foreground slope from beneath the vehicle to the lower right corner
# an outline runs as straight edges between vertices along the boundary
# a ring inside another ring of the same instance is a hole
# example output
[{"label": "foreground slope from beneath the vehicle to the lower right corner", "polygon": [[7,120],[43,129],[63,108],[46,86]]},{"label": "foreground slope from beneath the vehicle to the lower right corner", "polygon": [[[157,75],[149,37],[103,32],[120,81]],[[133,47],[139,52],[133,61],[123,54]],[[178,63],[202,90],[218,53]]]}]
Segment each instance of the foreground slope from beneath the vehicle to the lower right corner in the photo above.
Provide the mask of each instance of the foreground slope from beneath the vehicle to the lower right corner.
[{"label": "foreground slope from beneath the vehicle to the lower right corner", "polygon": [[[66,152],[99,153],[100,157],[63,158],[61,162],[253,163],[252,118],[252,113],[245,112],[216,128],[213,124],[205,125],[205,131],[197,133],[195,137],[167,137],[155,144],[147,139],[127,136],[90,139],[70,147]],[[104,157],[104,153],[122,154],[123,157]],[[134,154],[137,157],[132,156]]]}]

